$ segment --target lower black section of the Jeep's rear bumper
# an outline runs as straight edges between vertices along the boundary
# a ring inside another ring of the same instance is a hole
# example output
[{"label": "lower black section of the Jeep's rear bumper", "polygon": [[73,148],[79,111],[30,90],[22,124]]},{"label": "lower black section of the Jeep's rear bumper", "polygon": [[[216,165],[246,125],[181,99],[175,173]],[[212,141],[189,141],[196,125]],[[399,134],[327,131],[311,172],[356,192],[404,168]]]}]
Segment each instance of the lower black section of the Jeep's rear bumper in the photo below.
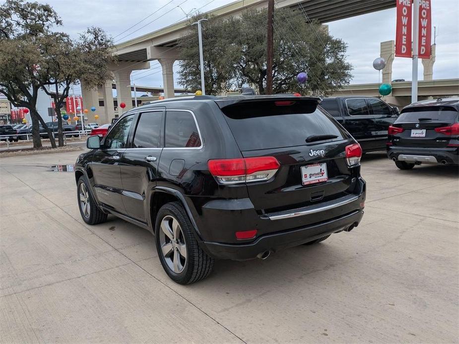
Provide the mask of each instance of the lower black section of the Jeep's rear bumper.
[{"label": "lower black section of the Jeep's rear bumper", "polygon": [[256,258],[264,251],[276,252],[280,249],[301,245],[328,234],[358,226],[363,210],[356,210],[344,216],[317,223],[311,226],[265,234],[254,242],[244,244],[226,244],[219,242],[202,242],[204,250],[215,258],[247,260]]}]

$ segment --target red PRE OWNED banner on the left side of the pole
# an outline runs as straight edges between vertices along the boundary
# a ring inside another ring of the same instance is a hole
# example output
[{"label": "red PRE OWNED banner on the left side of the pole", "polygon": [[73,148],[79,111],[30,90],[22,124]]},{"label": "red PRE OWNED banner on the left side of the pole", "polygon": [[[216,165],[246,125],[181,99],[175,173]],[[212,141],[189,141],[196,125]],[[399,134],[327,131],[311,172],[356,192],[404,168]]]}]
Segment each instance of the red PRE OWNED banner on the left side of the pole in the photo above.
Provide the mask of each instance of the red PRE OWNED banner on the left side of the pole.
[{"label": "red PRE OWNED banner on the left side of the pole", "polygon": [[395,56],[411,57],[411,0],[397,1]]}]

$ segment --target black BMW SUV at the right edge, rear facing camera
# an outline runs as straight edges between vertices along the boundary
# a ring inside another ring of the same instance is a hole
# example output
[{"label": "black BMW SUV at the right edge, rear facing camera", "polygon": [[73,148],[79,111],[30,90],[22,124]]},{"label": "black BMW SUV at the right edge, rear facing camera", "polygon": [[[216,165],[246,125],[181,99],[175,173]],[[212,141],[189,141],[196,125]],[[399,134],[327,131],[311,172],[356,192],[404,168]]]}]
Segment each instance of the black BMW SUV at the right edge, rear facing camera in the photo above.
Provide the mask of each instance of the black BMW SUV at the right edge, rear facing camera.
[{"label": "black BMW SUV at the right edge, rear facing camera", "polygon": [[427,100],[403,109],[389,127],[388,157],[401,170],[459,164],[459,98]]}]

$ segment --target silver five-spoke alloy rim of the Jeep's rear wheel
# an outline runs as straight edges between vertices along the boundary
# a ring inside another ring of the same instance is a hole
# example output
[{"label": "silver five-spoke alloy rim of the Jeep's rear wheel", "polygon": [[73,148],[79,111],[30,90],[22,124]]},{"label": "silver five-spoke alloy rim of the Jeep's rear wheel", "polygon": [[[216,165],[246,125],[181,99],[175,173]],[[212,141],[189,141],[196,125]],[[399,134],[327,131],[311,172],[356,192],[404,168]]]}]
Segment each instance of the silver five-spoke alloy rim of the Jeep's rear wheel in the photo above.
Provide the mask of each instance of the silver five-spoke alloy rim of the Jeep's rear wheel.
[{"label": "silver five-spoke alloy rim of the Jeep's rear wheel", "polygon": [[161,254],[169,269],[180,274],[187,262],[187,245],[179,222],[173,216],[167,215],[161,220],[159,231]]}]

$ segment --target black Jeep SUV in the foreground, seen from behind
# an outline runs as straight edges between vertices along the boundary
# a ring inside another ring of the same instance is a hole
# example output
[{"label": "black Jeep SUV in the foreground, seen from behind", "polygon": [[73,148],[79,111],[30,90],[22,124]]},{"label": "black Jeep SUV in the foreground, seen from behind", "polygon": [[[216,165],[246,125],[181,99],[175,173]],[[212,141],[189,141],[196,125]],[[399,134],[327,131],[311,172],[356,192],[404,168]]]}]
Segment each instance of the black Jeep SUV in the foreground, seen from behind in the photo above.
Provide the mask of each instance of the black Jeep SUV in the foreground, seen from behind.
[{"label": "black Jeep SUV in the foreground, seen from behind", "polygon": [[265,259],[359,224],[362,150],[320,98],[196,96],[132,109],[76,161],[81,216],[155,234],[171,279]]}]

